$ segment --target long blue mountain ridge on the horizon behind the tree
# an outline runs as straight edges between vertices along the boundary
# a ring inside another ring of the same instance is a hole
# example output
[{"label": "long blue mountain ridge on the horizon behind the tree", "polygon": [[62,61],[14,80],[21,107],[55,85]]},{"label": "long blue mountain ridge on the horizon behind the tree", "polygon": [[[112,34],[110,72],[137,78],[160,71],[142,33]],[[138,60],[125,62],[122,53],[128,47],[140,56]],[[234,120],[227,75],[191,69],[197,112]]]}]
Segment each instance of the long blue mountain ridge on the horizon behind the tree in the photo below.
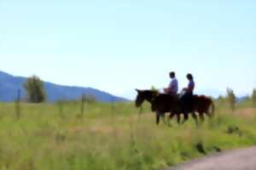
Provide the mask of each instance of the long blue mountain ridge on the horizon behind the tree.
[{"label": "long blue mountain ridge on the horizon behind the tree", "polygon": [[[17,98],[19,89],[21,98],[26,99],[26,91],[23,88],[23,83],[26,82],[26,79],[26,77],[15,77],[0,71],[0,101],[14,101]],[[51,82],[44,82],[44,89],[47,94],[48,102],[55,102],[60,99],[81,99],[82,94],[94,96],[96,100],[101,102],[128,101],[127,99],[102,92],[95,88],[61,86]]]}]

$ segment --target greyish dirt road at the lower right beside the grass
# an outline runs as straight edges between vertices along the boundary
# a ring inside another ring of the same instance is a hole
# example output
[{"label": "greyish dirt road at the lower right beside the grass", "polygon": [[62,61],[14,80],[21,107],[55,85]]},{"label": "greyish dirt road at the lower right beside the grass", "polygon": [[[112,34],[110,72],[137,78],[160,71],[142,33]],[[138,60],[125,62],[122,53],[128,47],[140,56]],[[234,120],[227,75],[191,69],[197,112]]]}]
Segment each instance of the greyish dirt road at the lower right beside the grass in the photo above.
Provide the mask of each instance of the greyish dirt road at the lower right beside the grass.
[{"label": "greyish dirt road at the lower right beside the grass", "polygon": [[256,146],[207,156],[167,170],[256,170]]}]

